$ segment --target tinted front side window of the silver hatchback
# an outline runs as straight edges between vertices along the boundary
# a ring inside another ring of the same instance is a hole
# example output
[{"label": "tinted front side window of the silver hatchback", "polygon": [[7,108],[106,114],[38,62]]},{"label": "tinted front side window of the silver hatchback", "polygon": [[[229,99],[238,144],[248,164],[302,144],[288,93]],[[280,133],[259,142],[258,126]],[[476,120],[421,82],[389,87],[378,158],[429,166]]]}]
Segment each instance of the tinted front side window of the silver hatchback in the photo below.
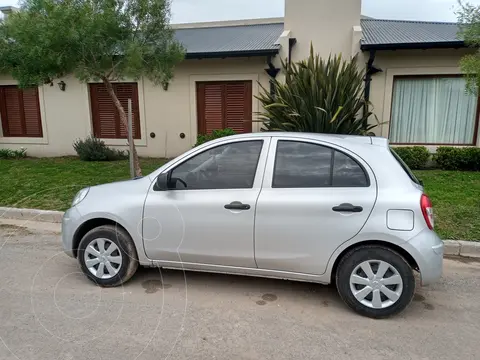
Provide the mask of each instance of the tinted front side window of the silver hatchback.
[{"label": "tinted front side window of the silver hatchback", "polygon": [[263,141],[243,141],[204,151],[172,171],[177,190],[250,189]]}]

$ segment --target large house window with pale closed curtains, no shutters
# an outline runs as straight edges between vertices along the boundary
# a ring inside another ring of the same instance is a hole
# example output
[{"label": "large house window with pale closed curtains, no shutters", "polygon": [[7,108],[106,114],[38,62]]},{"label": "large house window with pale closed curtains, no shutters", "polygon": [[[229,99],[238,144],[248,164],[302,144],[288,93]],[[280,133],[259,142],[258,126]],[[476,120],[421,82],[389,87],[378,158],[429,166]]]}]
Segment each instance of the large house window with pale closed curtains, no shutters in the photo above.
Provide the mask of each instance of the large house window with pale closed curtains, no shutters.
[{"label": "large house window with pale closed curtains, no shutters", "polygon": [[465,79],[396,77],[390,140],[404,144],[473,145],[478,96],[465,90]]}]

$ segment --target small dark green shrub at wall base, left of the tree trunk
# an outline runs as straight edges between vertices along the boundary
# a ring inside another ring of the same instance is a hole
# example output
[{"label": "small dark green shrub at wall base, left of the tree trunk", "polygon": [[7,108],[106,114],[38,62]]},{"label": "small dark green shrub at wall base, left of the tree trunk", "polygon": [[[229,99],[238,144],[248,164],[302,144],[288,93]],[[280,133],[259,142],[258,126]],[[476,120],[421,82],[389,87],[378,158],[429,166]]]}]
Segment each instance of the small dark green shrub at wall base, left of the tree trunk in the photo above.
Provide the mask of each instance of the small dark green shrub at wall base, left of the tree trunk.
[{"label": "small dark green shrub at wall base, left of the tree trunk", "polygon": [[109,148],[105,142],[93,135],[85,140],[78,139],[73,143],[80,160],[83,161],[115,161],[128,159],[128,151]]}]

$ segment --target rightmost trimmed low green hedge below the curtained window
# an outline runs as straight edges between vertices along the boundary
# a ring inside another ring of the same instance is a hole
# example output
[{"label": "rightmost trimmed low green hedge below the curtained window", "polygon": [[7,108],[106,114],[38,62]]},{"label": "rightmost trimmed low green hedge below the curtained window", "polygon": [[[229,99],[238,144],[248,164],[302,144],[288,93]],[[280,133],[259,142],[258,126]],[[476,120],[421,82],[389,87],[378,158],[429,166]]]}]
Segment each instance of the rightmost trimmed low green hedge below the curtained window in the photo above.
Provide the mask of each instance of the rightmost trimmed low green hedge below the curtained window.
[{"label": "rightmost trimmed low green hedge below the curtained window", "polygon": [[480,148],[442,146],[433,159],[442,170],[480,171]]}]

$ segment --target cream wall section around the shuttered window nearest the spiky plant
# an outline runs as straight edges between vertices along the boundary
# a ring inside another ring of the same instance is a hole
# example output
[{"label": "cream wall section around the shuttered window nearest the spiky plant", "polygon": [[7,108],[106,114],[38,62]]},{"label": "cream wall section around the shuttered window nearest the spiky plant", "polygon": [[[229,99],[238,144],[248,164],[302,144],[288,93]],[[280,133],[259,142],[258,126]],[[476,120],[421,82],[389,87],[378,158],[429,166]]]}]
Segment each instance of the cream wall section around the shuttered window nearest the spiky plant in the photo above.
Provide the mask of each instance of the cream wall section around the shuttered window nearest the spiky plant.
[{"label": "cream wall section around the shuttered window nearest the spiky plant", "polygon": [[[268,75],[265,73],[266,58],[238,58],[188,60],[175,71],[175,78],[168,91],[154,87],[145,81],[145,111],[147,135],[154,132],[155,139],[147,138],[148,156],[174,156],[190,149],[197,138],[197,81],[251,80],[253,96],[258,95],[260,82],[269,89]],[[259,102],[252,99],[253,112],[259,109]],[[253,124],[258,130],[259,124]],[[186,135],[180,138],[180,133]]]}]

